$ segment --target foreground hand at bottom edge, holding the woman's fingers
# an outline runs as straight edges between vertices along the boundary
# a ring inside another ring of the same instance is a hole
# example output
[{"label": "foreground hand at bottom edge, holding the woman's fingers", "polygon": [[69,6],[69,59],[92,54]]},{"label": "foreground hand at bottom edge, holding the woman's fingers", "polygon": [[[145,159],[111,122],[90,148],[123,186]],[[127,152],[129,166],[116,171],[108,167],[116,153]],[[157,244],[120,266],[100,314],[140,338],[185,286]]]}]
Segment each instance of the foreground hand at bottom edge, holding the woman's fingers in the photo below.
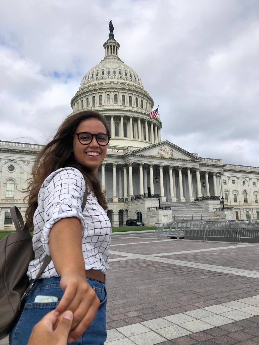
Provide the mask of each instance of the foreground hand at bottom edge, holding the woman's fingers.
[{"label": "foreground hand at bottom edge, holding the woman's fingers", "polygon": [[54,331],[57,316],[54,311],[48,313],[33,327],[27,345],[67,345],[72,319],[72,312],[66,311]]}]

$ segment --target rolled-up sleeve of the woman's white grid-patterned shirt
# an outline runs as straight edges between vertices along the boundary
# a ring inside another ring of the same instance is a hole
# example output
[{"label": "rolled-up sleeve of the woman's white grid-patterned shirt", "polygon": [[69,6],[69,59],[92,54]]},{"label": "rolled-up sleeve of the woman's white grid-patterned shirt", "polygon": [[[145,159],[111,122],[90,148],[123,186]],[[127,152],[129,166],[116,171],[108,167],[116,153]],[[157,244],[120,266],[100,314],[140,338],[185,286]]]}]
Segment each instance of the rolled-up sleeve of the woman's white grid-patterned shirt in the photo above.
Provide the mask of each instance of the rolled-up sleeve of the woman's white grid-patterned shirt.
[{"label": "rolled-up sleeve of the woman's white grid-patterned shirt", "polygon": [[[50,175],[51,176],[51,175]],[[64,168],[50,177],[44,193],[44,228],[41,243],[47,255],[49,251],[49,233],[52,226],[63,218],[76,217],[84,227],[82,210],[85,194],[85,180],[75,168]],[[73,229],[71,229],[73,231]]]}]

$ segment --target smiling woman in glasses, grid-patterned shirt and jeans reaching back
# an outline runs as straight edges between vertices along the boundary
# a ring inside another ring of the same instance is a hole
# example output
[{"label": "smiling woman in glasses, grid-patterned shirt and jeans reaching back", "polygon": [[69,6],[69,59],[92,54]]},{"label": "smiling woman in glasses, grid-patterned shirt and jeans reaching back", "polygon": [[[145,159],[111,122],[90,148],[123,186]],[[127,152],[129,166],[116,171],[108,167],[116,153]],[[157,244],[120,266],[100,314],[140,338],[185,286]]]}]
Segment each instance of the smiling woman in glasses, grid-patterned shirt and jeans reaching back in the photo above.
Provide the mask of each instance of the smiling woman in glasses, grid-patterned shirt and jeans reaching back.
[{"label": "smiling woman in glasses, grid-patterned shirt and jeans reaching back", "polygon": [[26,297],[11,345],[27,344],[33,326],[51,310],[56,316],[73,312],[68,343],[100,345],[106,340],[111,223],[96,176],[110,138],[102,115],[82,111],[68,117],[37,156],[26,212],[35,252],[28,277],[36,277],[46,255],[52,260]]}]

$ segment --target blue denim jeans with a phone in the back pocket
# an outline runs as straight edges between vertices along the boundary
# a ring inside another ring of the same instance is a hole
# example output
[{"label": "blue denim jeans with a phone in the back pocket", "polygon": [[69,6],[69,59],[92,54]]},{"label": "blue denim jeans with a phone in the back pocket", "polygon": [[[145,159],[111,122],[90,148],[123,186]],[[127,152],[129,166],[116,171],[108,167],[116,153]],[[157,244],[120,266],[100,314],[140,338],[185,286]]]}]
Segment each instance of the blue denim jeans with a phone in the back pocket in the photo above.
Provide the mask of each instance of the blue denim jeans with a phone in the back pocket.
[{"label": "blue denim jeans with a phone in the back pocket", "polygon": [[[93,322],[85,333],[71,344],[103,345],[106,341],[106,303],[107,291],[103,283],[87,278],[87,282],[94,288],[100,300],[100,307]],[[54,310],[59,302],[34,303],[38,295],[56,296],[58,301],[62,298],[64,291],[59,286],[60,278],[38,279],[25,300],[25,305],[20,313],[16,325],[9,335],[9,345],[26,345],[33,326],[43,316]]]}]

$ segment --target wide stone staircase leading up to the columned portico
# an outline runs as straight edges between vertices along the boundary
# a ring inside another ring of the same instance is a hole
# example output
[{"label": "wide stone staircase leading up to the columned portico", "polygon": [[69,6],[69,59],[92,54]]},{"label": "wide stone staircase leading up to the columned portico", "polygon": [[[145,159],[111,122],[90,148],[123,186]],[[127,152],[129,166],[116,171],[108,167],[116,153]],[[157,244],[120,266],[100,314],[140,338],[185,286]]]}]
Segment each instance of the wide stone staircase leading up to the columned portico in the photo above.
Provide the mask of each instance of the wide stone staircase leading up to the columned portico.
[{"label": "wide stone staircase leading up to the columned portico", "polygon": [[160,203],[162,206],[170,206],[173,221],[197,221],[197,220],[225,220],[215,212],[209,212],[197,203]]}]

